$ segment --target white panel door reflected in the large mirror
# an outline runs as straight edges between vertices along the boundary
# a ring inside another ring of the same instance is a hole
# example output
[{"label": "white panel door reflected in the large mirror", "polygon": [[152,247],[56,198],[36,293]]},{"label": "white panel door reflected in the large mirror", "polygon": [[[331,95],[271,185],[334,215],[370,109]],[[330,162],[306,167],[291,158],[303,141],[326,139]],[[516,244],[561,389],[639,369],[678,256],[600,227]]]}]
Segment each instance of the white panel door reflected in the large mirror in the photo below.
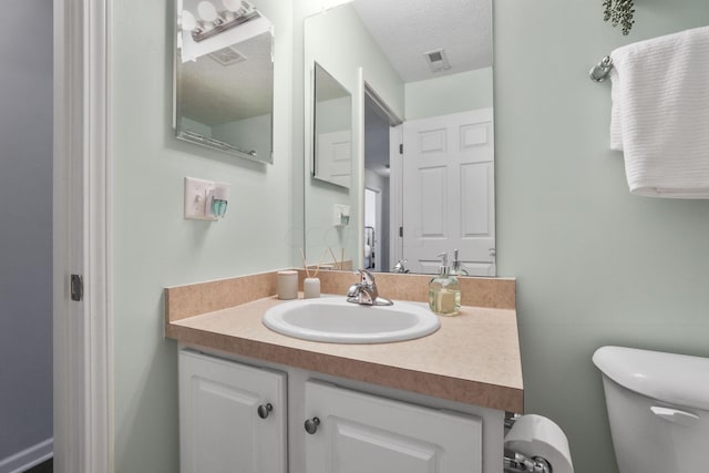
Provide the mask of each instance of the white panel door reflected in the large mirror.
[{"label": "white panel door reflected in the large mirror", "polygon": [[460,250],[471,276],[495,275],[492,109],[403,124],[403,258],[436,273],[436,255]]}]

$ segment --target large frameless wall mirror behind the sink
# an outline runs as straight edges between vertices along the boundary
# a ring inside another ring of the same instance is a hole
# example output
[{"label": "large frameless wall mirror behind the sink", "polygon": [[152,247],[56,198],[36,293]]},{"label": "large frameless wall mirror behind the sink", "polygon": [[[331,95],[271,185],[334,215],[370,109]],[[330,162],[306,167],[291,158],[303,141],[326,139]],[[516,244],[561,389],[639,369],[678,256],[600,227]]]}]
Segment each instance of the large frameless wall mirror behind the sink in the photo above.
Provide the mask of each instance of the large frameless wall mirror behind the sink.
[{"label": "large frameless wall mirror behind the sink", "polygon": [[458,249],[465,274],[495,276],[491,3],[353,0],[305,19],[306,103],[316,62],[352,93],[350,188],[306,173],[310,261],[430,274]]}]

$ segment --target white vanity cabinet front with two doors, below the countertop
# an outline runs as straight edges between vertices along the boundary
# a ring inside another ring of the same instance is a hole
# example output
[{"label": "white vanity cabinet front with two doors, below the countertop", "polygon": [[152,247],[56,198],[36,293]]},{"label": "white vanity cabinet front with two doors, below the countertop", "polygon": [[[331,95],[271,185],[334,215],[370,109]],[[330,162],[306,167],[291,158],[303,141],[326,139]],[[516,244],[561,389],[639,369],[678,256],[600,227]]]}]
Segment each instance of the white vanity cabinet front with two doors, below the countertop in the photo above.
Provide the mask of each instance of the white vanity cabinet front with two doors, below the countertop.
[{"label": "white vanity cabinet front with two doors, below the countertop", "polygon": [[502,472],[502,411],[253,361],[179,350],[182,473]]}]

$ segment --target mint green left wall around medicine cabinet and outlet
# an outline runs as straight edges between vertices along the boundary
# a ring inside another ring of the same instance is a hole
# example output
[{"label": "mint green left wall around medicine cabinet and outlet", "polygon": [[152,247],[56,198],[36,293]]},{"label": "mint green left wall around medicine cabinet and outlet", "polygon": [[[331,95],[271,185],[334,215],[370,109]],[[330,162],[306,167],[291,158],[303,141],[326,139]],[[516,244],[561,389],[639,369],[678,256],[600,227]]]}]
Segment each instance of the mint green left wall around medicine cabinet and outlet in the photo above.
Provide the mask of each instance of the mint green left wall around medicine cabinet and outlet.
[{"label": "mint green left wall around medicine cabinet and outlet", "polygon": [[[291,265],[291,229],[297,235],[301,225],[290,217],[292,9],[282,0],[255,3],[276,28],[274,165],[173,137],[172,2],[112,2],[117,473],[178,471],[177,357],[163,338],[163,288]],[[183,218],[185,176],[232,184],[224,220]]]}]

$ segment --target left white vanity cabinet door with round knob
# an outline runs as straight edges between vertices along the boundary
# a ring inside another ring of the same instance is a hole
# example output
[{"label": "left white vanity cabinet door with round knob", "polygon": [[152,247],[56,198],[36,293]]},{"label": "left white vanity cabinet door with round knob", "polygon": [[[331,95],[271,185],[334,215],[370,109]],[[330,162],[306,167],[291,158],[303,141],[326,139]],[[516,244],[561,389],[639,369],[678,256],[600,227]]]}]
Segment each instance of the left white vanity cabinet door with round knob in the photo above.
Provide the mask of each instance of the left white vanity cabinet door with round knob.
[{"label": "left white vanity cabinet door with round knob", "polygon": [[285,473],[286,419],[284,373],[181,350],[182,473]]}]

